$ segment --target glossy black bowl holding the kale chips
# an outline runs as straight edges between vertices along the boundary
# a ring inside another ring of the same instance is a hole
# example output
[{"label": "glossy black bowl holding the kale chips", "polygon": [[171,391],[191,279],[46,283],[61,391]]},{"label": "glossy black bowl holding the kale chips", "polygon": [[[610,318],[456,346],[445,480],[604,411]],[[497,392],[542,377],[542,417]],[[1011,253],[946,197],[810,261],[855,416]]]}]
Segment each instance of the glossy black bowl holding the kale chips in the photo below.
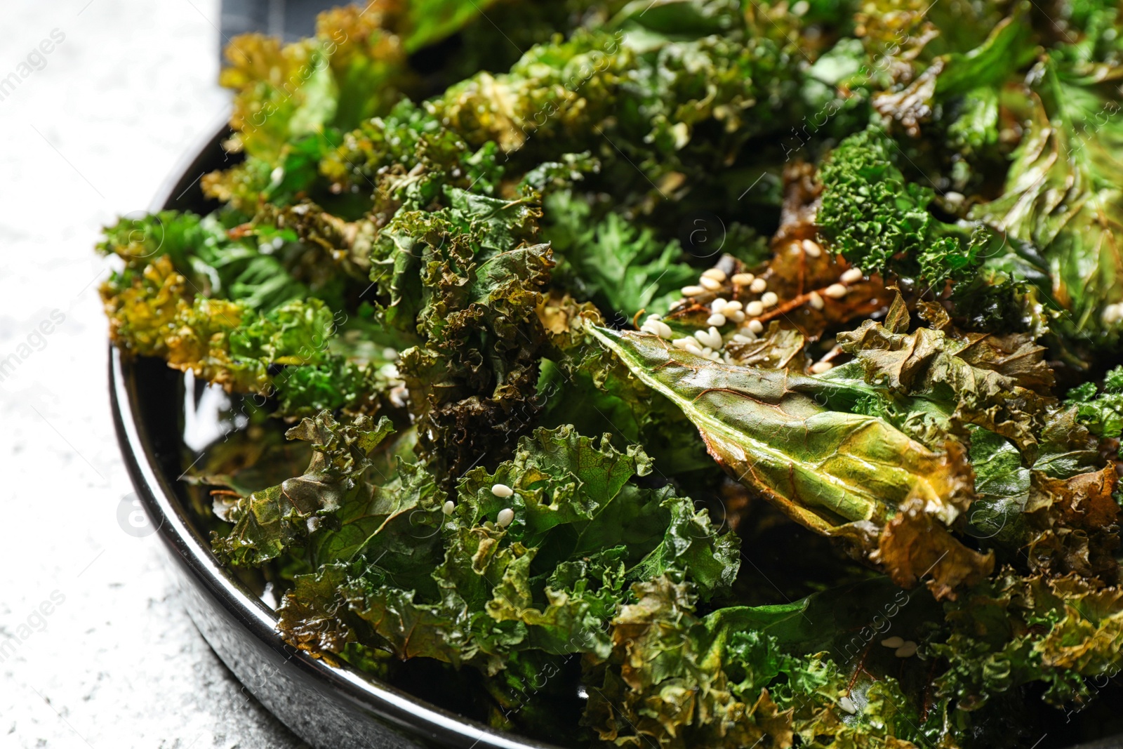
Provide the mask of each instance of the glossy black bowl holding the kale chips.
[{"label": "glossy black bowl holding the kale chips", "polygon": [[[199,176],[221,168],[221,140],[208,139],[181,166],[153,210],[206,212]],[[125,464],[153,526],[167,549],[188,613],[218,657],[246,689],[298,736],[323,749],[377,747],[487,747],[553,749],[496,732],[346,666],[335,667],[285,645],[276,615],[211,554],[177,477],[183,377],[164,362],[110,350],[110,396]]]}]

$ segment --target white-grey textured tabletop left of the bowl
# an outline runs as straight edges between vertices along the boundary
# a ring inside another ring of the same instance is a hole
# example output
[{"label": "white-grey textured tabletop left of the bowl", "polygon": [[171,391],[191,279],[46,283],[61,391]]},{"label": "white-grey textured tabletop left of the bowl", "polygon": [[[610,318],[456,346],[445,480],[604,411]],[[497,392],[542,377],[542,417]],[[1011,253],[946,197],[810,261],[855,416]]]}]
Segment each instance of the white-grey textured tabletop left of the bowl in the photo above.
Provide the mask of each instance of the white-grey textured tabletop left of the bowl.
[{"label": "white-grey textured tabletop left of the bowl", "polygon": [[223,118],[218,22],[217,0],[0,4],[3,749],[302,746],[195,632],[156,538],[118,521],[92,246]]}]

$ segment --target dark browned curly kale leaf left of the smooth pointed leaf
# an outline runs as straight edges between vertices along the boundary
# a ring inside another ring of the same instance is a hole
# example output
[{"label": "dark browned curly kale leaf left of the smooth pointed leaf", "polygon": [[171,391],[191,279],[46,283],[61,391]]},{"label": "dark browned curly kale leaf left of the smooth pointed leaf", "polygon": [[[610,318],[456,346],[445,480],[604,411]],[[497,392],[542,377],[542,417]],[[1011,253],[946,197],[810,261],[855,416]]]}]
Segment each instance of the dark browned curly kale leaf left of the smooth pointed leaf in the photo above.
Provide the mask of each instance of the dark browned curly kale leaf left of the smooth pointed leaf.
[{"label": "dark browned curly kale leaf left of the smooth pointed leaf", "polygon": [[554,263],[536,243],[537,205],[451,188],[445,200],[395,214],[374,244],[371,278],[382,318],[421,341],[398,368],[422,423],[419,455],[453,478],[501,457],[539,410],[535,309]]}]

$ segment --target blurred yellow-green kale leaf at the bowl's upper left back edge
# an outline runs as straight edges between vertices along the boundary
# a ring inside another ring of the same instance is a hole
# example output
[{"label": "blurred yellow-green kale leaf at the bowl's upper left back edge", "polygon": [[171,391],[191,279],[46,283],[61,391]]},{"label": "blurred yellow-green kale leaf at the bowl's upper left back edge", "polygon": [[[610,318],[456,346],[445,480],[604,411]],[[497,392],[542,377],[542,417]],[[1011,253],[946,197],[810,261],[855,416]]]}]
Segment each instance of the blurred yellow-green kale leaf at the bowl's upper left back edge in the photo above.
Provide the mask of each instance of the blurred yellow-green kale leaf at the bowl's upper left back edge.
[{"label": "blurred yellow-green kale leaf at the bowl's upper left back edge", "polygon": [[[204,192],[247,213],[261,197],[283,204],[314,193],[346,202],[321,179],[321,172],[331,179],[325,165],[336,158],[344,135],[408,103],[407,94],[423,89],[408,55],[471,26],[493,0],[377,4],[320,13],[316,35],[293,44],[257,34],[230,42],[220,82],[235,91],[230,146],[247,158],[206,175]],[[496,17],[505,25],[513,20],[506,16]],[[508,44],[502,29],[486,26]]]}]

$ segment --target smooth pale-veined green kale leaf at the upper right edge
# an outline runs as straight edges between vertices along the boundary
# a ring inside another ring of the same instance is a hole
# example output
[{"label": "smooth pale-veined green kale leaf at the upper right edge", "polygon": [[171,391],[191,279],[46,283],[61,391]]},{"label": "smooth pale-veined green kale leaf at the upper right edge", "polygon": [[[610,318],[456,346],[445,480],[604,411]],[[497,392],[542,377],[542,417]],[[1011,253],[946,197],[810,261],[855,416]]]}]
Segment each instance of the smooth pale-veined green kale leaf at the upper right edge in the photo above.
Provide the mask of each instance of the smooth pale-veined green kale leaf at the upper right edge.
[{"label": "smooth pale-veined green kale leaf at the upper right edge", "polygon": [[1005,192],[970,216],[1040,250],[1060,331],[1086,345],[1111,344],[1123,319],[1116,307],[1123,301],[1123,191],[1113,176],[1123,166],[1123,67],[1074,67],[1054,53],[1030,81],[1029,125]]}]

